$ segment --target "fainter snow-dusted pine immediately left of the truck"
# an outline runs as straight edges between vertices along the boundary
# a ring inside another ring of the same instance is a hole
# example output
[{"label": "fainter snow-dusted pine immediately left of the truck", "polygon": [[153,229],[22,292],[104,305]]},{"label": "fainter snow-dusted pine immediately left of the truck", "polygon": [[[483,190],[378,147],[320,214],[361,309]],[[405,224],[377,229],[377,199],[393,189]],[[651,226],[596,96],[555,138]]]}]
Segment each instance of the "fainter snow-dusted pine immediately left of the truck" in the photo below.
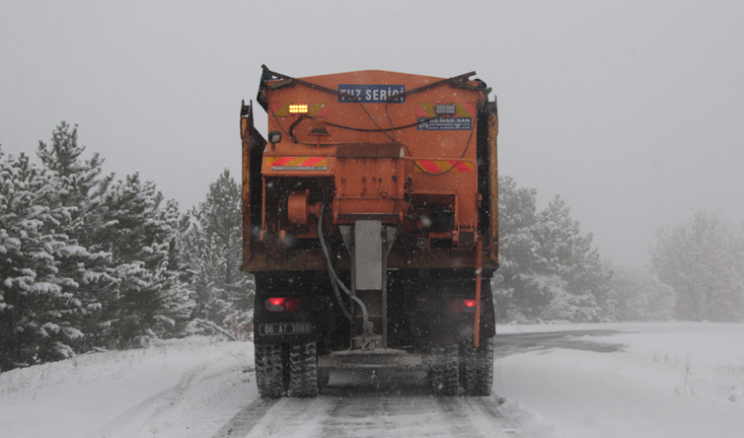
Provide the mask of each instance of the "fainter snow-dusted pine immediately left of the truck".
[{"label": "fainter snow-dusted pine immediately left of the truck", "polygon": [[238,335],[250,333],[253,280],[240,271],[243,242],[241,188],[228,169],[209,185],[206,200],[191,210],[183,243],[196,316]]}]

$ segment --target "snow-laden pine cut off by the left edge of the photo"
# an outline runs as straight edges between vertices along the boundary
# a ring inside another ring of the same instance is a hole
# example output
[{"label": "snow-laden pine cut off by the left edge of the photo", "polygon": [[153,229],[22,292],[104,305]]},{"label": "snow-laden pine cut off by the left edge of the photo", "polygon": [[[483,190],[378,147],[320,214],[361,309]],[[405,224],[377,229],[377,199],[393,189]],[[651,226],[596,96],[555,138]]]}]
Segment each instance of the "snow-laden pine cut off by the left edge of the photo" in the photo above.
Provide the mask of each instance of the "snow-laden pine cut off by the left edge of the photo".
[{"label": "snow-laden pine cut off by the left edge of the photo", "polygon": [[75,280],[60,258],[84,252],[58,228],[70,214],[25,154],[0,154],[0,369],[68,357],[82,336]]}]

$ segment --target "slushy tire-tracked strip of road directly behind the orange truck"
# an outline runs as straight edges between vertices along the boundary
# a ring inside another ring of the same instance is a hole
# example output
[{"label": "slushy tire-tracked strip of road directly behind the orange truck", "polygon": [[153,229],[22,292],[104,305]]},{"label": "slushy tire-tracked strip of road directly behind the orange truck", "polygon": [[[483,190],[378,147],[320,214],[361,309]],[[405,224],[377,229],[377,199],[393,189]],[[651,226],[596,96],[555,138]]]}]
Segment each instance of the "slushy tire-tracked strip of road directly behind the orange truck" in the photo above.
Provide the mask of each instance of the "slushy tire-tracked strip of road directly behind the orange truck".
[{"label": "slushy tire-tracked strip of road directly behind the orange truck", "polygon": [[333,375],[322,396],[258,400],[214,438],[520,435],[494,396],[430,396],[423,376]]}]

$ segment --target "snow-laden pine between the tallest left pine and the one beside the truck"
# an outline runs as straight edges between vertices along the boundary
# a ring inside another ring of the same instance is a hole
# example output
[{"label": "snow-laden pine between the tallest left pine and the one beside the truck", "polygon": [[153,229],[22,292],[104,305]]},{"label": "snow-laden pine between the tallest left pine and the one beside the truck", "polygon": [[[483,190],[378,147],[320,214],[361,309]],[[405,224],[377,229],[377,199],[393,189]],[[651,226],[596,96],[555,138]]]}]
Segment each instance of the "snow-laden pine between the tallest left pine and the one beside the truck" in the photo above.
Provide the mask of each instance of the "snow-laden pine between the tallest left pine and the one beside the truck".
[{"label": "snow-laden pine between the tallest left pine and the one beside the truck", "polygon": [[174,202],[161,208],[155,183],[137,173],[116,181],[105,194],[97,240],[112,253],[118,299],[104,308],[112,342],[137,344],[153,336],[180,334],[193,301],[174,272],[180,213]]}]

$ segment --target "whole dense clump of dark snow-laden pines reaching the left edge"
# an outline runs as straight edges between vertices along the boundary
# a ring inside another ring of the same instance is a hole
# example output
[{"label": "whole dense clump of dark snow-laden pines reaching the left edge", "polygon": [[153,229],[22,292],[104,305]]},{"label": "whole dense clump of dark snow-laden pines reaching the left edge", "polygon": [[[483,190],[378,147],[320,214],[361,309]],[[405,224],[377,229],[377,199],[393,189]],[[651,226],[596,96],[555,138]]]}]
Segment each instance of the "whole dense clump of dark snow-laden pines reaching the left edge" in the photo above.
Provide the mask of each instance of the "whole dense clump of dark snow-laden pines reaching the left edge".
[{"label": "whole dense clump of dark snow-laden pines reaching the left edge", "polygon": [[137,174],[112,184],[62,122],[42,167],[0,153],[0,369],[185,334],[187,219]]}]

